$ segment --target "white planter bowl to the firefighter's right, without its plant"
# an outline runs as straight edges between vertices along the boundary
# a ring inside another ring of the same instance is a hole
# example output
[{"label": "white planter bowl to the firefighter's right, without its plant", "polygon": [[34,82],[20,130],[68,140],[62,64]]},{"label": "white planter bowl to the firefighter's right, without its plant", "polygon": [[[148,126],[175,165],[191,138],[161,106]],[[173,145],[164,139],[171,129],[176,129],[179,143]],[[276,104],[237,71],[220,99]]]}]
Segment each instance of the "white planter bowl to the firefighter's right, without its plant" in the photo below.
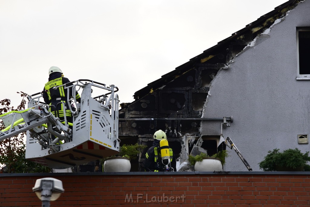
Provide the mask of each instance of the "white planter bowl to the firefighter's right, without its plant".
[{"label": "white planter bowl to the firefighter's right, without its plant", "polygon": [[214,171],[222,171],[223,166],[221,160],[219,160],[218,158],[207,157],[200,162],[196,162],[194,169],[195,171],[214,172]]}]

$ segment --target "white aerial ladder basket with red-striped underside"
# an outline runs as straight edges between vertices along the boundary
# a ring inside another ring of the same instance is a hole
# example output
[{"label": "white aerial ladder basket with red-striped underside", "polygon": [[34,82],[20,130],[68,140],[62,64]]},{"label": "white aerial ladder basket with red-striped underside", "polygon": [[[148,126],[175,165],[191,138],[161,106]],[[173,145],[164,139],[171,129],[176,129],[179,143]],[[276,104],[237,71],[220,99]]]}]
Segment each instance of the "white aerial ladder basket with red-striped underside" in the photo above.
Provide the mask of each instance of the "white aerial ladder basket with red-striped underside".
[{"label": "white aerial ladder basket with red-striped underside", "polygon": [[[65,169],[79,164],[117,154],[118,139],[118,88],[103,83],[80,79],[60,87],[67,88],[69,109],[73,123],[60,121],[50,112],[52,107],[41,102],[42,93],[28,96],[28,109],[12,111],[0,116],[4,129],[0,141],[27,131],[26,159],[49,166]],[[77,90],[78,89],[78,90]],[[81,104],[69,92],[80,92]],[[93,89],[102,95],[91,97]],[[60,103],[63,104],[63,103]],[[77,109],[75,109],[75,107]],[[63,107],[65,105],[63,104]],[[55,109],[54,108],[54,109]],[[53,109],[52,109],[53,110]],[[55,110],[57,114],[57,110]],[[56,138],[51,138],[54,135]]]}]

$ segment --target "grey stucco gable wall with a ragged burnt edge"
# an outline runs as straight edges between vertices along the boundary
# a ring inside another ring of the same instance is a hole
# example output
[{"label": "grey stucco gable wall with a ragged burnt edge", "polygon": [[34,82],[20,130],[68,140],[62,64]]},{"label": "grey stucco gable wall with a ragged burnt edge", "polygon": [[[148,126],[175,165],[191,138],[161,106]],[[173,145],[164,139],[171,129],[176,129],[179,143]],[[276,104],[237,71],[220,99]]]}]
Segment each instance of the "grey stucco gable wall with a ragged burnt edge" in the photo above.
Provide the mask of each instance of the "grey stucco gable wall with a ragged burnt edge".
[{"label": "grey stucco gable wall with a ragged burnt edge", "polygon": [[[299,148],[298,134],[310,134],[310,80],[296,80],[296,27],[310,26],[310,1],[290,11],[268,34],[256,39],[213,79],[203,117],[233,116],[223,128],[254,171],[267,151]],[[254,43],[254,42],[253,42]],[[204,122],[201,134],[219,135],[220,123]],[[228,149],[226,171],[247,171]]]}]

